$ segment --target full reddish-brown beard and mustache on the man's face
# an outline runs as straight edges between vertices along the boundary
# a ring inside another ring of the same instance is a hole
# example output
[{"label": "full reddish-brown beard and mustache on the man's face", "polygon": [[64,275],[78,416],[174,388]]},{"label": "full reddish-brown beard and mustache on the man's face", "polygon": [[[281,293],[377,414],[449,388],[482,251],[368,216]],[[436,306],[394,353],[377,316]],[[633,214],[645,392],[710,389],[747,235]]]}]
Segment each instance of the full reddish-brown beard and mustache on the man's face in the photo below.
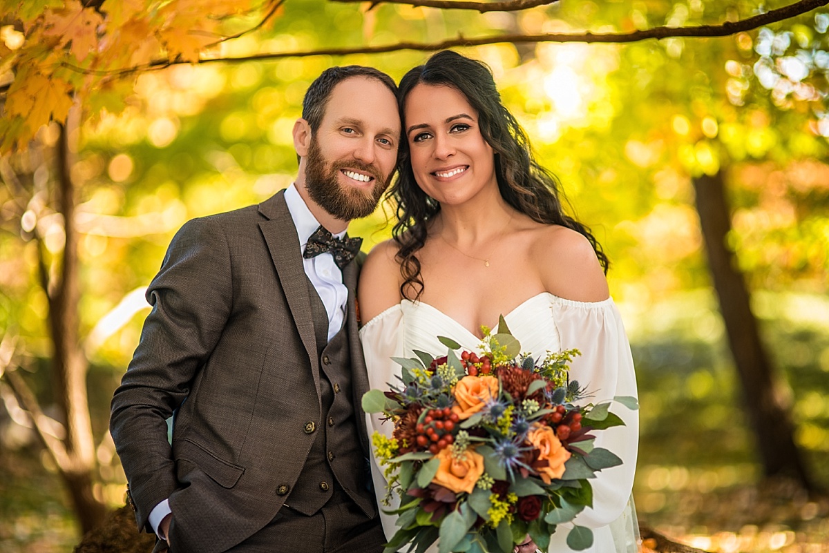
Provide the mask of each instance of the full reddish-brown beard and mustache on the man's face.
[{"label": "full reddish-brown beard and mustache on the man's face", "polygon": [[[356,170],[373,176],[374,188],[365,192],[341,185],[339,173],[342,169]],[[308,195],[337,219],[350,221],[374,213],[377,202],[380,201],[390,180],[391,175],[384,179],[375,166],[366,165],[361,161],[337,160],[327,166],[317,141],[312,139],[308,146],[308,156],[305,158],[305,187],[308,189]]]}]

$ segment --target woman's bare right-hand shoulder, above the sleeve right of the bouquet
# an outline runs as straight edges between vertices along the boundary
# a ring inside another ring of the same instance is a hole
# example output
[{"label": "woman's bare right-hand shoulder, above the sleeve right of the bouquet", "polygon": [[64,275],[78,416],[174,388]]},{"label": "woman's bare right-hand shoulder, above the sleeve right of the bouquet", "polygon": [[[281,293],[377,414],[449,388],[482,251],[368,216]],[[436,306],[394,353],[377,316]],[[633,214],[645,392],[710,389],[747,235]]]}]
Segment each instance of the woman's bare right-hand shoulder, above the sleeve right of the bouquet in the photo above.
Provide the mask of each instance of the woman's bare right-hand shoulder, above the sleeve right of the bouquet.
[{"label": "woman's bare right-hand shoulder, above the sleeve right of the bouquet", "polygon": [[537,228],[533,237],[533,259],[546,291],[574,301],[608,298],[604,270],[584,234],[553,224]]}]

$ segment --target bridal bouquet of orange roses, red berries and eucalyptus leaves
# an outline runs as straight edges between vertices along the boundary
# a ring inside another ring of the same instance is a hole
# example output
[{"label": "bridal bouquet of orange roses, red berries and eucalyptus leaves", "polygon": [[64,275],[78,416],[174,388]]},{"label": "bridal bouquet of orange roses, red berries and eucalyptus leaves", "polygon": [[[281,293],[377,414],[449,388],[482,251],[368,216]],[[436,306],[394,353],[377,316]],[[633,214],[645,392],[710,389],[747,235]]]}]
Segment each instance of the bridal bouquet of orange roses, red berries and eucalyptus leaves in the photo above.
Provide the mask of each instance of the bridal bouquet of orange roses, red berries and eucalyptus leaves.
[{"label": "bridal bouquet of orange roses, red berries and eucalyptus leaves", "polygon": [[[595,434],[623,421],[609,402],[576,406],[587,395],[570,380],[578,350],[547,353],[536,362],[521,354],[503,318],[478,353],[452,339],[445,357],[395,358],[400,382],[363,397],[368,413],[394,423],[391,438],[375,432],[385,467],[386,504],[400,494],[400,529],[385,551],[425,551],[439,539],[440,553],[511,553],[529,534],[541,551],[550,535],[593,501],[590,478],[621,464],[594,447]],[[636,398],[614,401],[635,409]],[[568,545],[592,545],[589,528],[574,526]]]}]

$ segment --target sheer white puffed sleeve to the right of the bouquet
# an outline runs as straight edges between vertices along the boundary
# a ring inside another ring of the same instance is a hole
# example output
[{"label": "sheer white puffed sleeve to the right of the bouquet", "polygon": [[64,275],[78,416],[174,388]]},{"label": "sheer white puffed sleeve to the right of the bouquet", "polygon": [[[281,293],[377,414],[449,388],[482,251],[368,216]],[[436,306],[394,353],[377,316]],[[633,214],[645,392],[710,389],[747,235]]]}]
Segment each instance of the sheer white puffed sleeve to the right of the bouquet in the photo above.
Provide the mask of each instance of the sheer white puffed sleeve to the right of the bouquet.
[{"label": "sheer white puffed sleeve to the right of the bouquet", "polygon": [[[614,396],[638,397],[633,357],[622,318],[612,299],[595,303],[557,298],[553,316],[559,329],[561,349],[579,349],[581,355],[570,365],[570,378],[587,389],[585,402],[599,403]],[[639,411],[629,410],[618,402],[611,411],[625,426],[596,433],[596,447],[617,454],[623,464],[604,469],[591,482],[593,507],[585,509],[575,523],[585,527],[602,527],[623,513],[633,489],[633,475],[639,442]]]}]

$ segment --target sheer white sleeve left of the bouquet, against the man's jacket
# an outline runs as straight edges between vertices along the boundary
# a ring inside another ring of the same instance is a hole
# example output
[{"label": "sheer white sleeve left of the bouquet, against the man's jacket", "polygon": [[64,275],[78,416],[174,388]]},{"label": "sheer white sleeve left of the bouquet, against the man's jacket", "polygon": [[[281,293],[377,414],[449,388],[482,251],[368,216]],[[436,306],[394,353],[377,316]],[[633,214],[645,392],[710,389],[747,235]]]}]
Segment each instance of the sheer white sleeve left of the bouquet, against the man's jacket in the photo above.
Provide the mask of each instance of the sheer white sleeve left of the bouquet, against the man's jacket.
[{"label": "sheer white sleeve left of the bouquet, against the man's jacket", "polygon": [[[360,340],[363,353],[366,355],[366,369],[368,381],[372,389],[388,390],[390,384],[395,384],[400,374],[400,366],[391,360],[392,357],[403,357],[403,311],[400,304],[377,315],[360,329]],[[391,421],[383,421],[381,414],[366,413],[366,426],[371,437],[375,432],[391,437],[394,425]],[[390,496],[390,504],[385,505],[386,485],[383,469],[377,464],[374,444],[371,445],[371,479],[374,483],[374,492],[381,509],[381,522],[386,539],[395,535],[396,517],[387,515],[384,510],[396,509],[400,505],[397,493]]]}]

